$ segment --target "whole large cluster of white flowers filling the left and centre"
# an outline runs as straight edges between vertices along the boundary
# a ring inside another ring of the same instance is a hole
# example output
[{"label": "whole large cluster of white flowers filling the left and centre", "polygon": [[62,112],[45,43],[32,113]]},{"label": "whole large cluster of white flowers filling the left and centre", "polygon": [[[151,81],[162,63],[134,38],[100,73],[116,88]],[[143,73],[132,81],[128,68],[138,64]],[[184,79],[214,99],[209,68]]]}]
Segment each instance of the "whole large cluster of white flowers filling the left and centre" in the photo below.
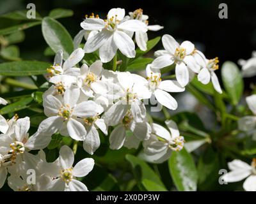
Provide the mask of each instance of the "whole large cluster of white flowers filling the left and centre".
[{"label": "whole large cluster of white flowers filling the left and centre", "polygon": [[[147,50],[147,31],[158,31],[160,25],[148,25],[148,16],[142,10],[130,12],[113,8],[106,20],[93,14],[81,22],[84,30],[74,39],[76,50],[63,62],[63,53],[58,51],[54,64],[47,69],[47,80],[51,87],[45,91],[43,120],[36,133],[28,136],[29,118],[6,121],[0,116],[0,187],[3,186],[7,171],[11,174],[8,184],[14,190],[81,191],[87,190],[76,177],[84,177],[93,168],[93,159],[83,159],[72,167],[74,154],[69,147],[60,149],[60,157],[54,163],[47,163],[42,149],[51,142],[54,133],[70,136],[83,142],[88,154],[100,146],[99,130],[109,135],[111,149],[138,148],[143,143],[145,154],[152,162],[161,163],[171,152],[184,146],[177,124],[166,120],[167,131],[159,124],[150,124],[144,102],[150,98],[170,110],[178,107],[177,101],[168,92],[183,92],[189,79],[198,74],[198,80],[208,84],[210,80],[216,91],[221,93],[220,84],[214,71],[218,69],[218,58],[206,59],[190,41],[179,45],[174,38],[165,34],[162,38],[165,50],[158,50],[156,59],[148,64],[147,78],[140,75],[103,68],[105,62],[115,60],[117,50],[126,57],[135,57],[135,42],[141,50]],[[86,38],[84,49],[78,48]],[[100,60],[86,64],[83,57],[99,50]],[[83,64],[79,67],[79,62]],[[177,80],[161,80],[161,68],[175,63]],[[0,98],[0,103],[6,104]],[[131,132],[132,134],[127,134]],[[38,155],[29,150],[40,150]],[[25,170],[36,171],[35,185],[26,182]]]}]

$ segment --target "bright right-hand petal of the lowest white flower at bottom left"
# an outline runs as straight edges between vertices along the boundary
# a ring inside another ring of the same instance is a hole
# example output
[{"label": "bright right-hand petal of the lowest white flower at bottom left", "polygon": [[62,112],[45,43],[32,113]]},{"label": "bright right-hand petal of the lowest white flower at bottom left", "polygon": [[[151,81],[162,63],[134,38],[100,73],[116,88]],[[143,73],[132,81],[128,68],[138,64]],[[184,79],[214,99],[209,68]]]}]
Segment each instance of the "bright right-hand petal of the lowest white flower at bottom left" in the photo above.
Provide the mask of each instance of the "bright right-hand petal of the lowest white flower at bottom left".
[{"label": "bright right-hand petal of the lowest white flower at bottom left", "polygon": [[75,177],[85,177],[93,170],[94,160],[92,158],[86,158],[79,161],[73,168],[73,175]]}]

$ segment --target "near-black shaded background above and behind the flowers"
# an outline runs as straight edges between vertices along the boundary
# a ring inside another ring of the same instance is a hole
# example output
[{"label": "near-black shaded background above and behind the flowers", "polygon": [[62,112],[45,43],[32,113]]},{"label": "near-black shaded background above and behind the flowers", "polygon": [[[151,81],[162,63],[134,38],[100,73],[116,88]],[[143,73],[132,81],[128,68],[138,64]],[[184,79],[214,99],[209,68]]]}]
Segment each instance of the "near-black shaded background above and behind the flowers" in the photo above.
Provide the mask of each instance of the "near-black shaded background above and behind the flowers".
[{"label": "near-black shaded background above and behind the flowers", "polygon": [[[111,8],[125,8],[126,13],[142,8],[143,13],[149,16],[149,24],[164,26],[161,31],[149,32],[149,38],[171,34],[177,41],[190,40],[204,52],[207,58],[218,56],[220,65],[227,60],[237,62],[241,58],[248,59],[256,47],[255,0],[0,0],[0,14],[24,10],[28,3],[35,3],[36,11],[42,16],[47,15],[53,8],[73,10],[73,17],[58,19],[72,37],[81,30],[79,24],[85,14],[93,12],[105,18]],[[220,3],[228,5],[228,19],[218,17]],[[4,27],[1,22],[0,27]],[[26,40],[19,45],[21,57],[45,60],[42,53],[47,45],[42,37],[40,26],[25,32]],[[161,43],[157,48],[161,48]],[[252,81],[255,81],[255,78],[246,79],[246,86],[248,87]]]}]

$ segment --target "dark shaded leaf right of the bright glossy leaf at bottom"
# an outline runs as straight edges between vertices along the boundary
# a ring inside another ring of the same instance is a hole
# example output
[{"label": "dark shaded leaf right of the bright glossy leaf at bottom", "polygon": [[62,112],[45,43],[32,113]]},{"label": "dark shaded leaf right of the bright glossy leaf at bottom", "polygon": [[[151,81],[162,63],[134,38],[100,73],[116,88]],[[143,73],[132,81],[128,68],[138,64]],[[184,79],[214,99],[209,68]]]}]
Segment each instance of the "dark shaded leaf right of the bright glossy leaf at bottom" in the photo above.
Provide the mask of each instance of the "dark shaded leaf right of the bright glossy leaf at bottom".
[{"label": "dark shaded leaf right of the bright glossy leaf at bottom", "polygon": [[205,152],[202,152],[198,161],[198,188],[209,191],[214,186],[218,186],[218,174],[220,162],[218,154],[209,146]]}]

